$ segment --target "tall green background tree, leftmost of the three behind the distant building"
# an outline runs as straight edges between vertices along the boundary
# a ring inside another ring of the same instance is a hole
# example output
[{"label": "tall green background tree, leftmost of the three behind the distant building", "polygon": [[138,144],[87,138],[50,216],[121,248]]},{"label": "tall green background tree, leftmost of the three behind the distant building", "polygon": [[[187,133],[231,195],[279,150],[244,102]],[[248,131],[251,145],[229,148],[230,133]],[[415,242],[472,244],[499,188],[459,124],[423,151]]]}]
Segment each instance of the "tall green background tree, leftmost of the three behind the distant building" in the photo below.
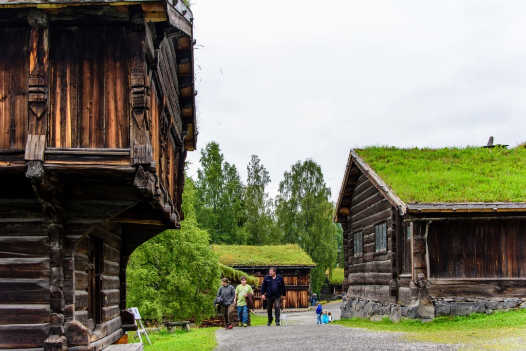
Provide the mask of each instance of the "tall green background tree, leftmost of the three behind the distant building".
[{"label": "tall green background tree, leftmost of the three behind the distant building", "polygon": [[197,221],[210,233],[211,242],[245,244],[243,229],[245,187],[235,165],[225,161],[215,141],[201,149],[201,168],[197,170]]}]

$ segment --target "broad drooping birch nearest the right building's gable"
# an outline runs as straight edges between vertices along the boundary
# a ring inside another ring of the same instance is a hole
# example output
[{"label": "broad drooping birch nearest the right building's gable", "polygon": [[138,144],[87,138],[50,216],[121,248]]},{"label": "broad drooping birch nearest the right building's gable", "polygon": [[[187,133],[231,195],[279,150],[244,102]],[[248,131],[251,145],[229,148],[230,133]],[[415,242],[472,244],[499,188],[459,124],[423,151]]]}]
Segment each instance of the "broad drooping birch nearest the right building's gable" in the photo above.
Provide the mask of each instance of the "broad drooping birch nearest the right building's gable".
[{"label": "broad drooping birch nearest the right building's gable", "polygon": [[312,290],[319,292],[325,272],[337,261],[337,232],[332,223],[334,206],[320,166],[312,159],[298,161],[285,172],[276,200],[278,224],[285,243],[296,243],[316,267],[311,271]]}]

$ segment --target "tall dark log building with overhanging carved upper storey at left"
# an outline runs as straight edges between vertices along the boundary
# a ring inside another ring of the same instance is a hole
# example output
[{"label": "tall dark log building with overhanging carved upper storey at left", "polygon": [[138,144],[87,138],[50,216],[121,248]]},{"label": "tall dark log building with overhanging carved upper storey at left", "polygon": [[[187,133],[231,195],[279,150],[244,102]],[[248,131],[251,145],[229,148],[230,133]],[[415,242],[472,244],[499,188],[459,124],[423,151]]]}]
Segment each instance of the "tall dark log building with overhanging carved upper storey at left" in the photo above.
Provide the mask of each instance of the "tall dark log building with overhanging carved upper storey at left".
[{"label": "tall dark log building with overhanging carved upper storey at left", "polygon": [[192,20],[177,0],[0,4],[1,349],[136,329],[128,257],[183,219]]}]

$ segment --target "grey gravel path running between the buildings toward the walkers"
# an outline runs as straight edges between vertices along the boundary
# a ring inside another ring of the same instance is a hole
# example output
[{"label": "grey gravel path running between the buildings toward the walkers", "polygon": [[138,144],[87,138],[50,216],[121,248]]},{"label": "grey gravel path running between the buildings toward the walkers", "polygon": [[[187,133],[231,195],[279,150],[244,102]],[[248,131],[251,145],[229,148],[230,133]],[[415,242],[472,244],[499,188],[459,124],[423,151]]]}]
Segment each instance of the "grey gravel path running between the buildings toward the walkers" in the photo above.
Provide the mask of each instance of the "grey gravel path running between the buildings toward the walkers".
[{"label": "grey gravel path running between the buildings toward the walkers", "polygon": [[[340,302],[324,305],[339,319]],[[219,329],[217,351],[456,350],[453,346],[408,342],[402,333],[370,332],[340,325],[316,325],[314,311],[287,313],[289,325]]]}]

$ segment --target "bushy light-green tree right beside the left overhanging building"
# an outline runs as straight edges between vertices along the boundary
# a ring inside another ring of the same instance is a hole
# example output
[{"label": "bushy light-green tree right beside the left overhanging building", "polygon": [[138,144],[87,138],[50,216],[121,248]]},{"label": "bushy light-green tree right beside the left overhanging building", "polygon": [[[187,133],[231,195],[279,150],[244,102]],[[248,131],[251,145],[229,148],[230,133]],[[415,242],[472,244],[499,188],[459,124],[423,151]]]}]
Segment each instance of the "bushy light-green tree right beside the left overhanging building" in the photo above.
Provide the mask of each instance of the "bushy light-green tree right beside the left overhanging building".
[{"label": "bushy light-green tree right beside the left overhanging building", "polygon": [[186,178],[181,229],[155,236],[130,256],[127,303],[145,319],[199,323],[214,314],[221,271],[208,232],[197,225],[195,203],[194,182]]}]

